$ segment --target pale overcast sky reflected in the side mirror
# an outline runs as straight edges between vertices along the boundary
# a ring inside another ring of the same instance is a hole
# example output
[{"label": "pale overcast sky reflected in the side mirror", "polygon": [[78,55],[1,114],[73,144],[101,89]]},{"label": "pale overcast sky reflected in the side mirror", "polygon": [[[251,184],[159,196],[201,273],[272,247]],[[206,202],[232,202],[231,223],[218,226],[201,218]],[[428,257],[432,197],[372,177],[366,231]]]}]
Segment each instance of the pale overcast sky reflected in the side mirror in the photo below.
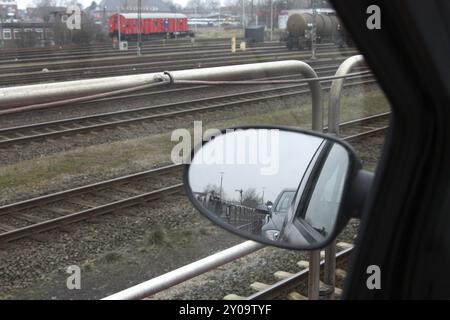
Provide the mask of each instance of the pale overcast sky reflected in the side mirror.
[{"label": "pale overcast sky reflected in the side mirror", "polygon": [[[195,155],[189,172],[191,188],[194,192],[204,191],[208,184],[220,186],[220,173],[223,172],[223,191],[228,198],[239,198],[236,189],[254,188],[261,195],[264,187],[264,200],[274,202],[281,190],[298,187],[311,158],[323,141],[321,138],[281,131],[278,148],[272,146],[271,148],[274,149],[271,152],[264,152],[264,154],[270,154],[268,158],[270,162],[277,162],[278,170],[271,175],[261,175],[261,168],[268,167],[268,165],[198,164],[202,161],[202,157],[203,159],[214,159],[217,156],[218,159],[221,159],[222,153],[217,155],[212,152],[215,146],[218,146],[219,150],[224,150],[223,155],[236,154],[234,139],[238,135],[241,136],[242,133],[219,136],[214,142],[205,144],[203,149]],[[297,147],[293,148],[293,146]],[[261,151],[266,149],[267,147],[264,147]]]}]

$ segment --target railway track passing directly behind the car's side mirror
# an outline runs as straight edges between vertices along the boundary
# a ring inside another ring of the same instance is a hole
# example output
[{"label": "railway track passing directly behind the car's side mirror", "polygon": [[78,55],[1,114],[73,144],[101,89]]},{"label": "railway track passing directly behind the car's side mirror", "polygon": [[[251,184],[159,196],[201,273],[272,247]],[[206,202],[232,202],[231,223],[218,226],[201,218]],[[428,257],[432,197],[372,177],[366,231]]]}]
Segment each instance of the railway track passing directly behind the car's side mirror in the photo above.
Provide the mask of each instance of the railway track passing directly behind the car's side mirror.
[{"label": "railway track passing directly behind the car's side mirror", "polygon": [[[354,131],[360,131],[357,139],[381,133],[388,117],[381,113],[344,122],[342,132],[351,134],[343,139],[354,139]],[[1,206],[0,244],[182,193],[181,169],[169,165]]]}]

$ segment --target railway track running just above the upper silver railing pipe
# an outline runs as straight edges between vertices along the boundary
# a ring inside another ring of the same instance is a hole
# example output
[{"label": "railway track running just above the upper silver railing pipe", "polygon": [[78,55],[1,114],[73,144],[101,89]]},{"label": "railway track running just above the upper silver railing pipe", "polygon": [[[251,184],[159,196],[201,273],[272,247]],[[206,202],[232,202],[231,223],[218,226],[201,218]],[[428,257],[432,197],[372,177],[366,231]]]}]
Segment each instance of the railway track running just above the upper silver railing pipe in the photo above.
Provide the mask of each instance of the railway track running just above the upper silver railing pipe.
[{"label": "railway track running just above the upper silver railing pipe", "polygon": [[[309,53],[301,52],[263,52],[255,53],[247,51],[245,53],[238,54],[217,54],[215,56],[208,55],[206,57],[196,57],[191,59],[186,59],[185,55],[180,55],[178,60],[166,60],[166,61],[150,61],[141,63],[136,63],[136,61],[131,63],[120,64],[118,61],[110,61],[109,65],[106,66],[95,66],[95,67],[84,67],[84,68],[73,68],[73,69],[61,69],[52,70],[48,72],[33,71],[33,72],[22,72],[22,73],[3,73],[0,74],[0,86],[13,86],[21,84],[32,84],[41,82],[52,82],[52,81],[67,81],[77,80],[77,79],[90,79],[97,77],[108,77],[108,76],[120,76],[120,75],[132,75],[132,74],[143,74],[159,72],[161,69],[192,69],[192,68],[207,68],[207,67],[217,67],[224,65],[233,64],[248,64],[256,62],[270,62],[279,60],[304,60],[310,62],[311,66],[314,67],[317,64],[323,63],[324,60],[333,61],[343,61],[345,58],[355,54],[356,51],[353,49],[341,50],[341,51],[323,51],[319,52],[318,60],[309,61]],[[122,61],[123,62],[123,61]],[[42,69],[42,68],[41,68]],[[17,71],[17,69],[14,69]]]}]

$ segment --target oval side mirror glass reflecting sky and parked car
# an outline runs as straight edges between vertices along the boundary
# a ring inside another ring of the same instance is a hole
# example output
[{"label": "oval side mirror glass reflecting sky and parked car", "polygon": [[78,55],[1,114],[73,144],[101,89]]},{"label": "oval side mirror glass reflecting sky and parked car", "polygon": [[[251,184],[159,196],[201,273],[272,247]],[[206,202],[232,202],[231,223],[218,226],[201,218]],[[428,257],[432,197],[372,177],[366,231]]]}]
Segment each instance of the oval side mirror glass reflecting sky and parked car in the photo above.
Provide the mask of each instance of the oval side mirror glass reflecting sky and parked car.
[{"label": "oval side mirror glass reflecting sky and parked car", "polygon": [[234,233],[317,248],[334,231],[349,159],[340,143],[308,133],[229,130],[194,152],[186,183],[196,207]]}]

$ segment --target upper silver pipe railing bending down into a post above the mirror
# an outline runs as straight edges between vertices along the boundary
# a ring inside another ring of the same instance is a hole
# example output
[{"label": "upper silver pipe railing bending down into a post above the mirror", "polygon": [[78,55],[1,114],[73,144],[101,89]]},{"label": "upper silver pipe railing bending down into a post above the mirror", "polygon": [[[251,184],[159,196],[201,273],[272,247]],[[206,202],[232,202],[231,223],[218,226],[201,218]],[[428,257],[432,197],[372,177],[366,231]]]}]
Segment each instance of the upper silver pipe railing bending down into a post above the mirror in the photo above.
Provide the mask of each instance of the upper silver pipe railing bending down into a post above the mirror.
[{"label": "upper silver pipe railing bending down into a post above the mirror", "polygon": [[[317,78],[316,72],[308,64],[298,60],[172,71],[171,76],[175,80],[220,81],[275,77],[296,72],[302,74],[305,78]],[[152,83],[156,84],[162,80],[169,81],[170,78],[164,73],[148,73],[6,87],[0,88],[0,106],[2,109],[8,109],[68,100],[145,86]],[[313,126],[318,127],[319,122],[322,123],[322,107],[320,105],[322,89],[317,81],[309,82],[309,86],[313,103]]]}]

